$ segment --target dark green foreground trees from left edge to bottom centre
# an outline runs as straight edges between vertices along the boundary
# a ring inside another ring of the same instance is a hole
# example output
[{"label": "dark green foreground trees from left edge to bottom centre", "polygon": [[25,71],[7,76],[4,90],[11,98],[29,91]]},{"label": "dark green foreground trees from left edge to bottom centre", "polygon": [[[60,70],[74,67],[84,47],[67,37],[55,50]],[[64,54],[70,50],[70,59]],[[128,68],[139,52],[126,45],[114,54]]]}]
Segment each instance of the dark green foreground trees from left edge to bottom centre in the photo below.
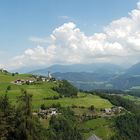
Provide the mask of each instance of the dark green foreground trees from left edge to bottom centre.
[{"label": "dark green foreground trees from left edge to bottom centre", "polygon": [[59,110],[60,115],[52,116],[49,128],[44,128],[39,117],[33,115],[32,95],[22,90],[15,106],[3,95],[0,97],[0,139],[82,140],[74,113],[69,108]]}]

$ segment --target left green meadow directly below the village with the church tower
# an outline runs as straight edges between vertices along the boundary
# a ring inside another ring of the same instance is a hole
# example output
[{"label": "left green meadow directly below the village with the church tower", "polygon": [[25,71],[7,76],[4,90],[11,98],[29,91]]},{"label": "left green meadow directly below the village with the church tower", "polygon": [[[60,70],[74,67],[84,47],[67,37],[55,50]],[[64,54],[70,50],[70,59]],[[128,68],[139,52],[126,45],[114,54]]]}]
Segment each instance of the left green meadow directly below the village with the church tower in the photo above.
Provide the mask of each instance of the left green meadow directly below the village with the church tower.
[{"label": "left green meadow directly below the village with the church tower", "polygon": [[[8,85],[11,86],[11,89],[6,92]],[[39,85],[0,84],[0,95],[7,94],[9,99],[15,102],[17,100],[16,97],[21,94],[21,89],[26,89],[29,94],[33,95],[33,104],[36,104],[38,101],[42,102],[43,98],[58,95],[57,92],[51,89],[53,86],[53,83],[41,83]]]}]

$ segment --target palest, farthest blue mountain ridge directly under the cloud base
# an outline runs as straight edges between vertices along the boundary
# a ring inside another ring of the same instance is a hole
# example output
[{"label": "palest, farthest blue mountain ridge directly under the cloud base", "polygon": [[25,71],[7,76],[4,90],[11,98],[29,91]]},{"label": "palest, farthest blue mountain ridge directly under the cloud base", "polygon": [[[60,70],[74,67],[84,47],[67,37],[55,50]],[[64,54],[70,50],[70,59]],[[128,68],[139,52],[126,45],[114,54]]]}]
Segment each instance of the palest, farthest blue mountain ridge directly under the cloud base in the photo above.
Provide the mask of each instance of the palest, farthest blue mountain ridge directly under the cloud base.
[{"label": "palest, farthest blue mountain ridge directly under the cloud base", "polygon": [[93,63],[93,64],[73,64],[73,65],[53,65],[45,69],[31,71],[32,74],[47,75],[48,71],[51,73],[66,73],[66,72],[88,72],[88,73],[105,73],[114,74],[123,71],[123,68],[109,63]]}]

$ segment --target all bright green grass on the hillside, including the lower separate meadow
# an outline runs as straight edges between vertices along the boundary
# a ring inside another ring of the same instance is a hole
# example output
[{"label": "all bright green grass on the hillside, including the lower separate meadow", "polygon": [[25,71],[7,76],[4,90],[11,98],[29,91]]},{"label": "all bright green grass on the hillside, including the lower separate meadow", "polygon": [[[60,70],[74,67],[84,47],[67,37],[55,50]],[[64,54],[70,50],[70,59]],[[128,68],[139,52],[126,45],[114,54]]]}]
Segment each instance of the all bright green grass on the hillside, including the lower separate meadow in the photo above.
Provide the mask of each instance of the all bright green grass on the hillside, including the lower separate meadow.
[{"label": "all bright green grass on the hillside, including the lower separate meadow", "polygon": [[[112,104],[105,99],[100,98],[96,95],[90,95],[85,93],[78,93],[78,98],[61,98],[58,100],[43,100],[46,97],[52,97],[58,95],[57,92],[52,90],[52,87],[57,83],[40,83],[38,85],[15,85],[11,82],[16,79],[30,79],[31,75],[16,75],[11,76],[10,74],[4,75],[0,73],[0,95],[7,94],[11,102],[16,102],[17,96],[20,95],[21,89],[26,89],[28,93],[33,95],[33,106],[34,108],[39,108],[41,104],[51,105],[53,103],[59,102],[62,106],[84,106],[84,109],[77,109],[77,112],[83,113],[87,111],[87,108],[91,105],[94,105],[96,108],[109,108],[112,107]],[[8,85],[11,85],[11,90],[6,93],[6,88]],[[48,120],[44,120],[45,125],[48,125]],[[112,124],[112,121],[106,120],[105,118],[94,119],[90,121],[85,121],[81,124],[81,128],[92,128],[94,130],[85,133],[86,137],[89,137],[93,133],[97,136],[100,136],[103,139],[107,139],[113,131],[109,127]]]}]

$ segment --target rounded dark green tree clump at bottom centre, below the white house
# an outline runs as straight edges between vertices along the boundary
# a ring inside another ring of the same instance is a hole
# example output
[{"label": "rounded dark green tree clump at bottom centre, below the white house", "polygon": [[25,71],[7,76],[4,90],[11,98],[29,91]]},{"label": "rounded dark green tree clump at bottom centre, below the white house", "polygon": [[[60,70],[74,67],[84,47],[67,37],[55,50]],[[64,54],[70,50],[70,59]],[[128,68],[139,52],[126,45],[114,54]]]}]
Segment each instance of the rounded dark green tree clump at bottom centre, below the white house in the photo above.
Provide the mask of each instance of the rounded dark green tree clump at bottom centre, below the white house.
[{"label": "rounded dark green tree clump at bottom centre, below the white house", "polygon": [[48,131],[49,140],[82,140],[77,127],[64,116],[52,116]]}]

